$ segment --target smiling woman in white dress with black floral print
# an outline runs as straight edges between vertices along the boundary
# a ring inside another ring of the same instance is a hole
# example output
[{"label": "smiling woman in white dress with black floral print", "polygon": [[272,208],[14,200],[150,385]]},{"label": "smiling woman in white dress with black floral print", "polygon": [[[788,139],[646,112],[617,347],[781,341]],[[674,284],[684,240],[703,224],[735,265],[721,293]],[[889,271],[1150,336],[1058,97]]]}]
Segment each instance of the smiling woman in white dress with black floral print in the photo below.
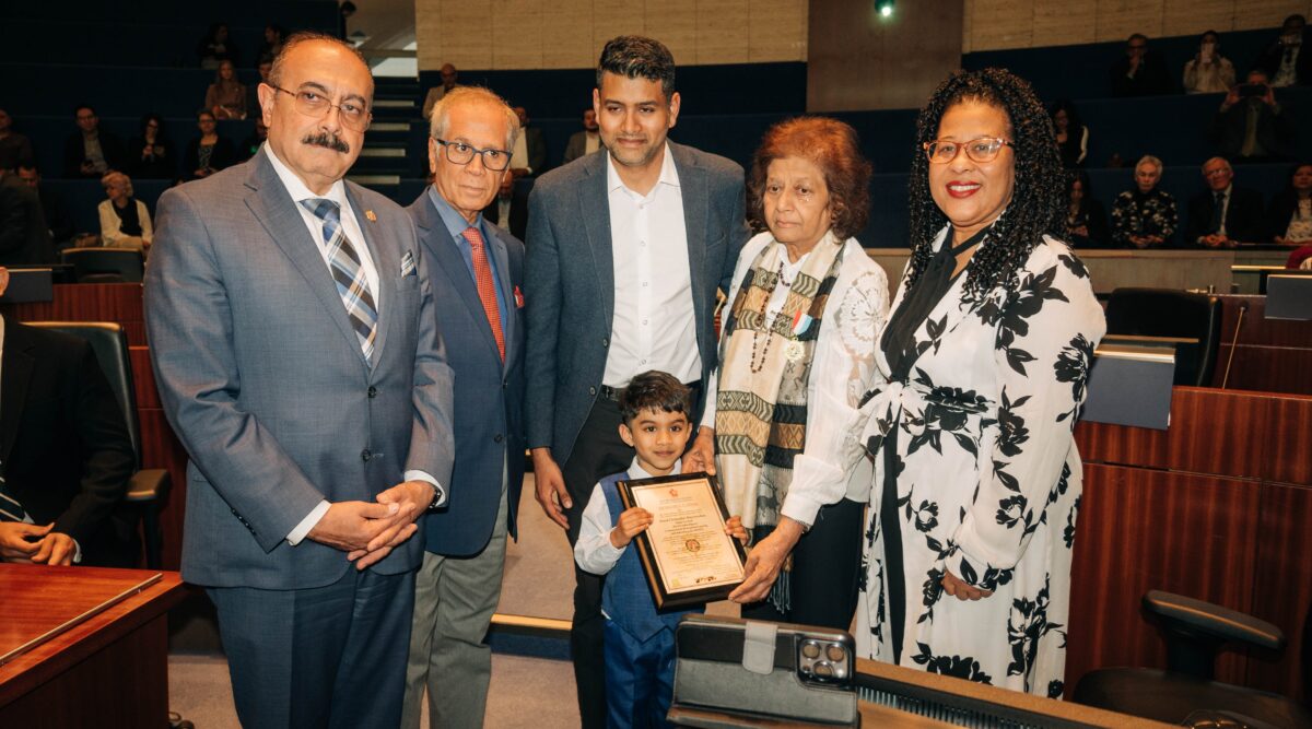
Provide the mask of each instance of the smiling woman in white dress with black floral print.
[{"label": "smiling woman in white dress with black floral print", "polygon": [[863,654],[1060,696],[1081,468],[1105,330],[1065,228],[1052,125],[1006,71],[921,111],[912,257],[875,351]]}]

